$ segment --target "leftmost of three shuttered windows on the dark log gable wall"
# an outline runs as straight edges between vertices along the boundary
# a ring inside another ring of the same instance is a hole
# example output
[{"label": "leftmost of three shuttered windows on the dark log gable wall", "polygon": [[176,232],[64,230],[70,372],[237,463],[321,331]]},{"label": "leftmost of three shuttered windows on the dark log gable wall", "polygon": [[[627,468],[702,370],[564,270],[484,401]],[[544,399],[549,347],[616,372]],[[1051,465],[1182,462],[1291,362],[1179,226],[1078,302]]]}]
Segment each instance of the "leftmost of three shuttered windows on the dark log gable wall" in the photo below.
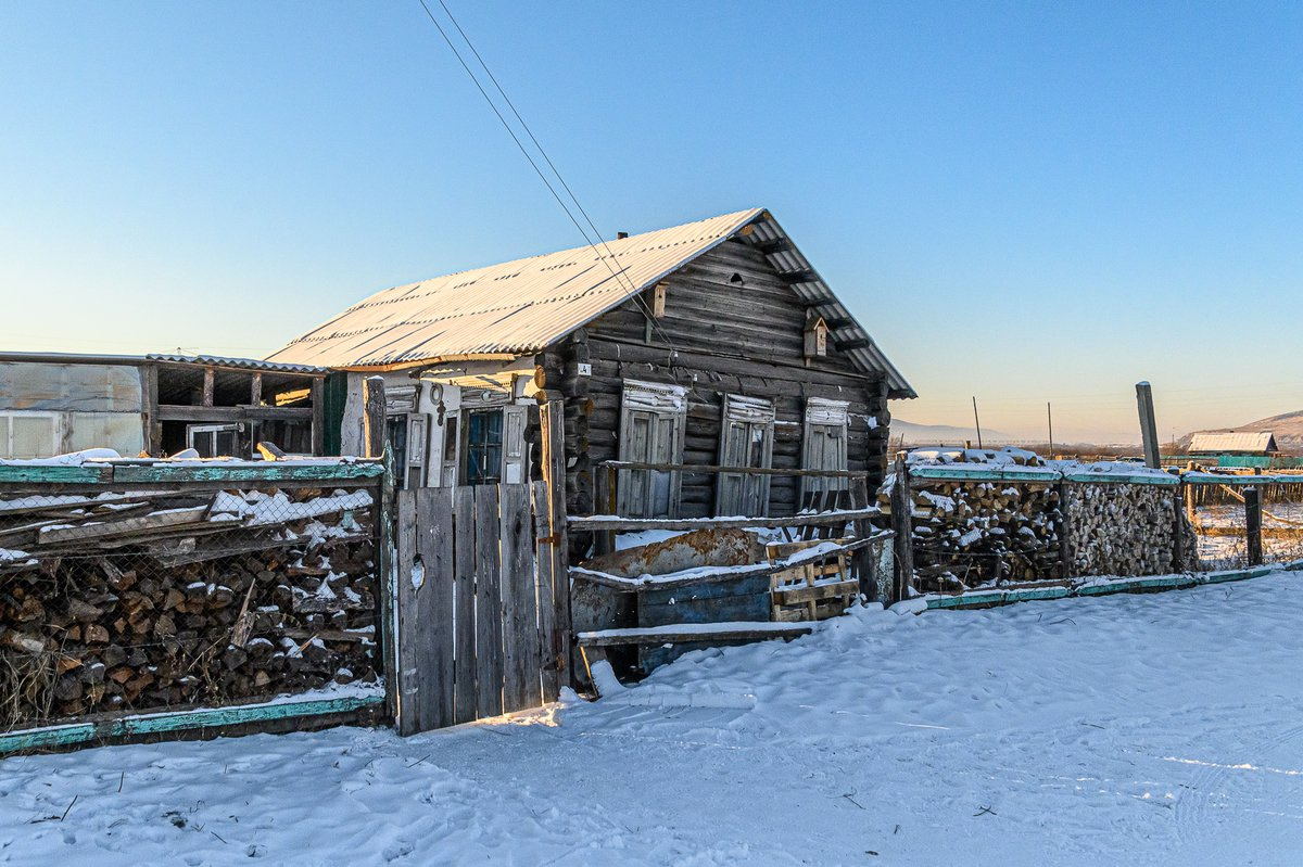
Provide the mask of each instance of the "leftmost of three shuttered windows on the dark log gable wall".
[{"label": "leftmost of three shuttered windows on the dark log gable wall", "polygon": [[[633,463],[681,463],[688,393],[680,385],[625,380],[620,405],[619,458]],[[629,518],[679,514],[681,474],[676,470],[620,470],[616,512]]]}]

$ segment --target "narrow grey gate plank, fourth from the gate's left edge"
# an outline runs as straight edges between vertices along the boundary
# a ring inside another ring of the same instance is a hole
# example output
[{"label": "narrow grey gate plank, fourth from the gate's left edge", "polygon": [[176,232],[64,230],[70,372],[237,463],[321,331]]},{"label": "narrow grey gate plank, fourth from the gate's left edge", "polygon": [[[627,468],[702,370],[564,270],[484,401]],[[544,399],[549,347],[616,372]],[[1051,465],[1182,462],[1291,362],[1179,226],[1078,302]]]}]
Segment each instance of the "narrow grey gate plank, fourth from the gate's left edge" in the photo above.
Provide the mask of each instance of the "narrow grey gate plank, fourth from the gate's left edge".
[{"label": "narrow grey gate plank, fourth from the gate's left edge", "polygon": [[476,496],[476,715],[502,715],[502,569],[498,561],[498,487]]}]

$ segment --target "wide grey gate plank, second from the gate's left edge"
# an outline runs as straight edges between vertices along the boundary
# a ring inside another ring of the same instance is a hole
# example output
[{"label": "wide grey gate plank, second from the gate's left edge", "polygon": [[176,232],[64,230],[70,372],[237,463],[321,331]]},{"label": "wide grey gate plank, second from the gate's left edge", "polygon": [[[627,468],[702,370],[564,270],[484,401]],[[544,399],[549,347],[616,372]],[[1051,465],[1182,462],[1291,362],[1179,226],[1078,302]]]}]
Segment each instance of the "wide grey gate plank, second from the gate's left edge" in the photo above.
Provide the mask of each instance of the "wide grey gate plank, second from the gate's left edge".
[{"label": "wide grey gate plank, second from the gate's left edge", "polygon": [[[453,526],[452,489],[421,488],[417,493],[417,545],[425,582],[417,591],[422,600],[417,629],[421,664],[427,673],[421,693],[421,720],[426,729],[452,725],[453,720]],[[410,585],[412,582],[408,582]]]}]

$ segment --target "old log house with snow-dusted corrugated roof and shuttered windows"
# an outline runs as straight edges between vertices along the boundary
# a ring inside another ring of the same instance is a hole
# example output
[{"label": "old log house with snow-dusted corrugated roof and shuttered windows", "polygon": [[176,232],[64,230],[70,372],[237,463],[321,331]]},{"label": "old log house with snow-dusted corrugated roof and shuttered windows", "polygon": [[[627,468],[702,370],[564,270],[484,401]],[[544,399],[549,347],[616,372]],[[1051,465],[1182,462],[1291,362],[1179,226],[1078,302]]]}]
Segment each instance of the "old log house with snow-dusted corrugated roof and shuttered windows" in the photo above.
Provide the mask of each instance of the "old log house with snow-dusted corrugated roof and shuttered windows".
[{"label": "old log house with snow-dusted corrugated roof and shuttered windows", "polygon": [[[580,514],[609,460],[853,470],[876,483],[887,400],[915,397],[760,208],[384,289],[268,362],[345,371],[332,417],[344,453],[360,448],[362,380],[382,375],[409,487],[533,478],[539,401],[562,401]],[[844,479],[622,471],[618,510],[790,514],[820,486]]]}]

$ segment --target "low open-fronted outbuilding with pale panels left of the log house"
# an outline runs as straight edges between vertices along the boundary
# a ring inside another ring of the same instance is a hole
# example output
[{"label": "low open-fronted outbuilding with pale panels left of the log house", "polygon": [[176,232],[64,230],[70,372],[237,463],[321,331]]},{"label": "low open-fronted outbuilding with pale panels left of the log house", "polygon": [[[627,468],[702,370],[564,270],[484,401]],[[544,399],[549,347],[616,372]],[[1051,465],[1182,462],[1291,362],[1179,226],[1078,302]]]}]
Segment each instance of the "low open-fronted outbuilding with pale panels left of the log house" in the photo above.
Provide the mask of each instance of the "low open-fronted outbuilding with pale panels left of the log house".
[{"label": "low open-fronted outbuilding with pale panels left of the log house", "polygon": [[212,355],[0,353],[0,460],[89,448],[322,453],[324,368]]}]

